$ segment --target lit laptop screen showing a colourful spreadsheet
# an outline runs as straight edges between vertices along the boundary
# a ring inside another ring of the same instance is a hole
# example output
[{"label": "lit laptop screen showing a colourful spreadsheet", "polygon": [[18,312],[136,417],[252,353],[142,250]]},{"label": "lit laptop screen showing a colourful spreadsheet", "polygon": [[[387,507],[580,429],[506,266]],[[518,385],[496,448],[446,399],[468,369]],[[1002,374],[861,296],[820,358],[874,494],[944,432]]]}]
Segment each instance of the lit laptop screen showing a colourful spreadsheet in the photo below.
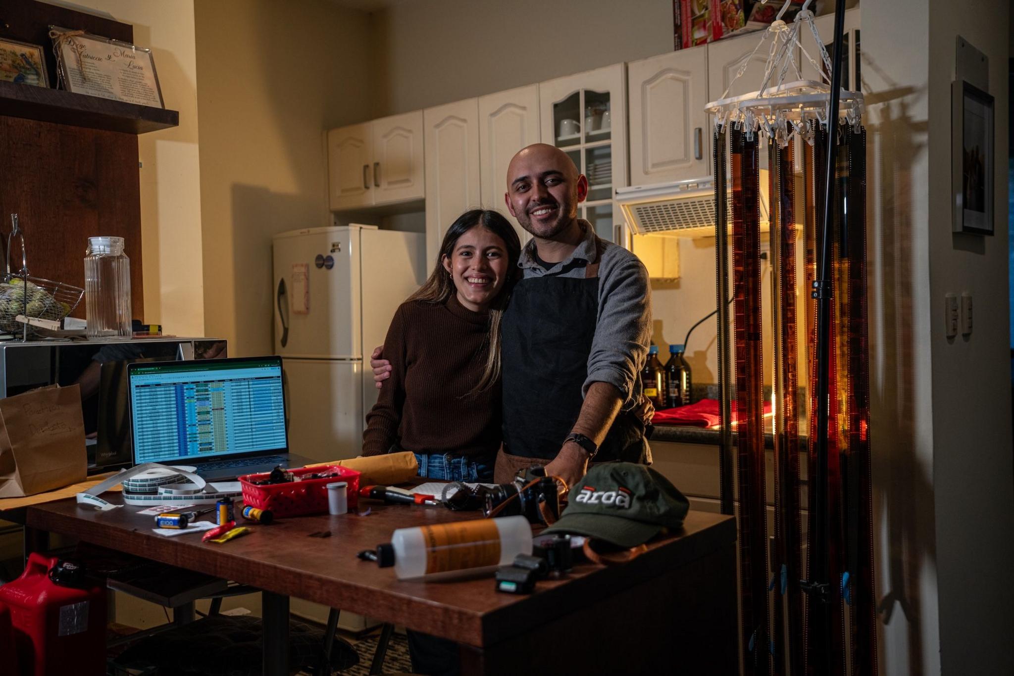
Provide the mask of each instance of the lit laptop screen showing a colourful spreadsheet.
[{"label": "lit laptop screen showing a colourful spreadsheet", "polygon": [[135,464],[286,450],[280,357],[129,368]]}]

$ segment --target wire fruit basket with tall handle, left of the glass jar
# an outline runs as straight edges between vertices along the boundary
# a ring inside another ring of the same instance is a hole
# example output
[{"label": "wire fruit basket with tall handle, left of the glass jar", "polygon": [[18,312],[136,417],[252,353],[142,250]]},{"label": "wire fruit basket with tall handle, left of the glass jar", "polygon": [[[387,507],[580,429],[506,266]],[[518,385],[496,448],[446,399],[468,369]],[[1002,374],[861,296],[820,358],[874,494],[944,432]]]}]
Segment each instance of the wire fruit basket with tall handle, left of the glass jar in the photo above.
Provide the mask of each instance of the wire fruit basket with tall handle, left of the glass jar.
[{"label": "wire fruit basket with tall handle, left of the glass jar", "polygon": [[[84,289],[54,282],[28,274],[27,256],[24,251],[24,232],[20,229],[17,214],[11,214],[14,229],[7,236],[6,272],[0,282],[0,330],[22,339],[34,336],[38,331],[15,317],[38,317],[60,321],[70,314],[84,296]],[[10,252],[14,237],[21,246],[21,271],[12,274]]]}]

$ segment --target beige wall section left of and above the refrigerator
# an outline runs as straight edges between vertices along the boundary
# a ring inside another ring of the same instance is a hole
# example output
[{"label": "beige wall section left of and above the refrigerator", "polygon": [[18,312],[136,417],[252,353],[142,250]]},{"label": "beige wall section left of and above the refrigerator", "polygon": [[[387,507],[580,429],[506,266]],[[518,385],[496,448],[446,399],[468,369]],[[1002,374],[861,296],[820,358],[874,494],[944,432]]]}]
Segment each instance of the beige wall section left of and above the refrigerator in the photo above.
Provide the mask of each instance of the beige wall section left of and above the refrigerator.
[{"label": "beige wall section left of and above the refrigerator", "polygon": [[368,15],[324,0],[196,7],[209,335],[272,343],[272,235],[330,224],[324,130],[370,118]]}]

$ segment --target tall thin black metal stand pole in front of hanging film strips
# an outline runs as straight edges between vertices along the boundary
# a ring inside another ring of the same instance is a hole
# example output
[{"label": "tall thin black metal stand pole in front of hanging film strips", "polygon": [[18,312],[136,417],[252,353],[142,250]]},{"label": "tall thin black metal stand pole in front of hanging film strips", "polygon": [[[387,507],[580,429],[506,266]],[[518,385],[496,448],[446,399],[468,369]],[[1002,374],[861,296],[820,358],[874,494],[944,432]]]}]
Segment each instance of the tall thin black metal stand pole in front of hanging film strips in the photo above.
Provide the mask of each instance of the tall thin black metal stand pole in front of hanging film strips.
[{"label": "tall thin black metal stand pole in front of hanging film strips", "polygon": [[810,555],[813,568],[809,571],[810,580],[803,584],[803,590],[809,595],[816,595],[821,603],[815,605],[818,611],[809,617],[809,636],[813,646],[811,655],[819,656],[820,663],[812,665],[814,673],[831,673],[830,631],[831,631],[831,594],[838,593],[831,584],[828,560],[828,536],[830,523],[827,510],[827,412],[828,412],[828,359],[829,359],[829,328],[831,313],[831,215],[835,209],[834,189],[835,171],[838,163],[838,118],[839,102],[842,91],[842,43],[845,32],[845,0],[835,3],[835,49],[831,57],[830,102],[827,107],[827,163],[824,174],[823,201],[823,239],[820,242],[820,257],[818,259],[817,281],[813,283],[813,298],[817,301],[817,350],[816,350],[816,430],[810,430],[810,436],[816,439],[816,468],[811,483],[814,494],[813,551]]}]

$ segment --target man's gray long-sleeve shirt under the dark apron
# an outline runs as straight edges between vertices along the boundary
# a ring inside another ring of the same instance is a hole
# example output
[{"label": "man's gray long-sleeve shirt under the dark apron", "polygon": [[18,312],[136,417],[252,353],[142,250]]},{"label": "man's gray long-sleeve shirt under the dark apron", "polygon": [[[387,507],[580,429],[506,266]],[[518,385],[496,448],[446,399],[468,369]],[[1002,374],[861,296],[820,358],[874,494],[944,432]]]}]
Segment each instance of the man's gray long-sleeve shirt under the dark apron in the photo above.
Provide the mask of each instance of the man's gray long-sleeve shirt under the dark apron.
[{"label": "man's gray long-sleeve shirt under the dark apron", "polygon": [[[585,220],[584,239],[573,253],[549,270],[535,259],[535,242],[521,251],[518,267],[524,278],[585,276],[585,266],[596,257],[595,229]],[[588,377],[581,393],[593,382],[607,382],[624,395],[623,409],[633,408],[641,399],[641,369],[651,345],[651,288],[648,271],[641,260],[623,248],[602,241],[604,249],[598,267],[598,316],[595,336],[588,355]]]}]

